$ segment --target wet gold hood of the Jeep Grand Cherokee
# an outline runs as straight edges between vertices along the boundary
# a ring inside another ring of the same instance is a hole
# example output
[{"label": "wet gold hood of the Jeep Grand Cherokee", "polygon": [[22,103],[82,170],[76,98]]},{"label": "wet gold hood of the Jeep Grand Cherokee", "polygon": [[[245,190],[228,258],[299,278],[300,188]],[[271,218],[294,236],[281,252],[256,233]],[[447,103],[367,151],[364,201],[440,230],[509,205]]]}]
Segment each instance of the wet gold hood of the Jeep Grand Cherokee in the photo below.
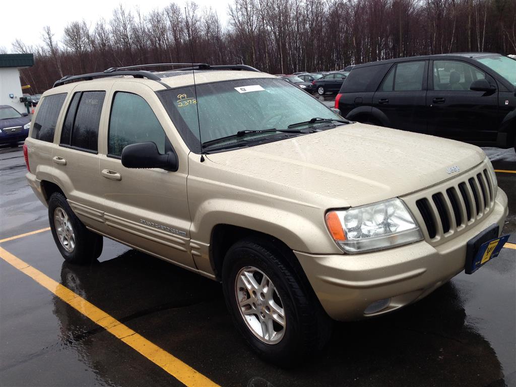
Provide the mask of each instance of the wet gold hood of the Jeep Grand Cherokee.
[{"label": "wet gold hood of the Jeep Grand Cherokee", "polygon": [[325,208],[407,195],[485,157],[463,142],[360,123],[207,156],[233,186]]}]

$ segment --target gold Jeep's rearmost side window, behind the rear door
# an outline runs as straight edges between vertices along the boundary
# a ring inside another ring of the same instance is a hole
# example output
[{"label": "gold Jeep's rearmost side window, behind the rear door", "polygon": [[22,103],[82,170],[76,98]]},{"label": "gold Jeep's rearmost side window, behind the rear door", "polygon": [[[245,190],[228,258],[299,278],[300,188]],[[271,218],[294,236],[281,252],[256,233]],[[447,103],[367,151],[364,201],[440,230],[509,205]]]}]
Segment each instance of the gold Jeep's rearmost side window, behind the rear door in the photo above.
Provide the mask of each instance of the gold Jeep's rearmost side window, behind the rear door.
[{"label": "gold Jeep's rearmost side window, behind the rear door", "polygon": [[37,140],[54,141],[57,118],[65,102],[66,93],[48,95],[43,98],[34,121],[32,137]]}]

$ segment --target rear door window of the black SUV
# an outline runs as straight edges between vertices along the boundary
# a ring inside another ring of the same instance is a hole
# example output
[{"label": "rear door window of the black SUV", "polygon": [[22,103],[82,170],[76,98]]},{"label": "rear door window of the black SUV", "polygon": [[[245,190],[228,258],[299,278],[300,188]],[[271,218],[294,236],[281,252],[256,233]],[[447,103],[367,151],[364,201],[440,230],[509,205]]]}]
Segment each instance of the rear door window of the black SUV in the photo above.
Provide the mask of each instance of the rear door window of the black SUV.
[{"label": "rear door window of the black SUV", "polygon": [[[354,70],[353,70],[354,71]],[[395,65],[383,81],[382,91],[423,90],[425,62],[402,62]]]}]

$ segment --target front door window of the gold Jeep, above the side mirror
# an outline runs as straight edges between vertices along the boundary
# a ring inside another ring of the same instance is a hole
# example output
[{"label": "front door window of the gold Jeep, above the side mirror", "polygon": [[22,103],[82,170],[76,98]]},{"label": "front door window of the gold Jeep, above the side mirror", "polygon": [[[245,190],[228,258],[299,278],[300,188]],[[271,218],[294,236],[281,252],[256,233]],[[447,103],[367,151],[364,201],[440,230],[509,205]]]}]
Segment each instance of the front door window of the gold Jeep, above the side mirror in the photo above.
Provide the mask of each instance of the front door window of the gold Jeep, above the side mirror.
[{"label": "front door window of the gold Jeep, above the side mirror", "polygon": [[109,118],[108,153],[120,156],[125,146],[148,141],[165,153],[165,131],[151,107],[139,95],[116,93]]}]

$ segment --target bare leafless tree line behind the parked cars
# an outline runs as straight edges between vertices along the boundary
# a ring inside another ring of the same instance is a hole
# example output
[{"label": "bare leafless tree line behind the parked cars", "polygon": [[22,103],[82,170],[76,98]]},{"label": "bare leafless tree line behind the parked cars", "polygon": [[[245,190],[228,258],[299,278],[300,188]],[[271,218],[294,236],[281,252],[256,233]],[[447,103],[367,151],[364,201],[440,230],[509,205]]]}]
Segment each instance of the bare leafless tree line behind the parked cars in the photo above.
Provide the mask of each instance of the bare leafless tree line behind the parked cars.
[{"label": "bare leafless tree line behind the parked cars", "polygon": [[63,75],[163,62],[245,63],[269,73],[339,70],[401,56],[516,53],[515,0],[233,0],[227,22],[190,1],[143,14],[123,5],[109,20],[73,21],[57,40],[20,40],[22,71],[42,92]]}]

